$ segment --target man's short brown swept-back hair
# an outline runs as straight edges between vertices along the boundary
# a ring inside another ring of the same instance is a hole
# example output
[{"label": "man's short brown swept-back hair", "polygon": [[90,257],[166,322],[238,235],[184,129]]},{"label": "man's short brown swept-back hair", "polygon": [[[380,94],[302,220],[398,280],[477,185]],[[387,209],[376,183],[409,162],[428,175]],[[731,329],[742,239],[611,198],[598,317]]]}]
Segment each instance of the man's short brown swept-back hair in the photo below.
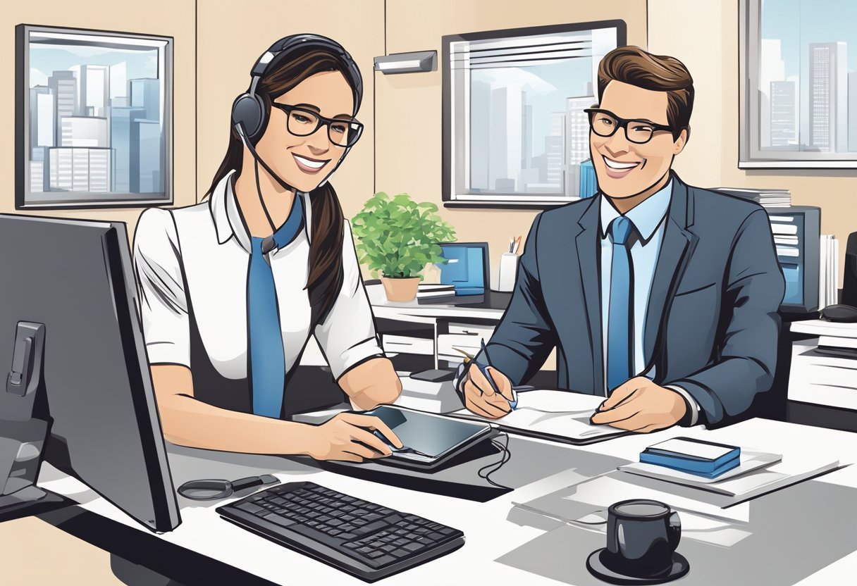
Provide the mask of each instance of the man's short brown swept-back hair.
[{"label": "man's short brown swept-back hair", "polygon": [[628,45],[610,51],[598,64],[598,101],[610,81],[621,81],[655,92],[667,93],[667,121],[677,139],[682,130],[690,134],[693,111],[693,78],[675,57],[652,55]]}]

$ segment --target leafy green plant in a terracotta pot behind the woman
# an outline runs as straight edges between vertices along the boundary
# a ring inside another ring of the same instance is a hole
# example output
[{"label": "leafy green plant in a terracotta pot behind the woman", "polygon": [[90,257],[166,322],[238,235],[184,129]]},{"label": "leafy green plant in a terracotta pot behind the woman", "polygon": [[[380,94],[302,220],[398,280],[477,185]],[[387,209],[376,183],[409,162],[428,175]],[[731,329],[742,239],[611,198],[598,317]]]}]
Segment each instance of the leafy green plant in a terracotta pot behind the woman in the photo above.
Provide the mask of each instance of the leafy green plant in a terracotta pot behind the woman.
[{"label": "leafy green plant in a terracotta pot behind the woman", "polygon": [[417,203],[408,194],[373,195],[351,220],[357,258],[381,283],[387,299],[411,301],[417,296],[426,265],[445,262],[438,242],[455,240],[455,230],[437,214],[433,203]]}]

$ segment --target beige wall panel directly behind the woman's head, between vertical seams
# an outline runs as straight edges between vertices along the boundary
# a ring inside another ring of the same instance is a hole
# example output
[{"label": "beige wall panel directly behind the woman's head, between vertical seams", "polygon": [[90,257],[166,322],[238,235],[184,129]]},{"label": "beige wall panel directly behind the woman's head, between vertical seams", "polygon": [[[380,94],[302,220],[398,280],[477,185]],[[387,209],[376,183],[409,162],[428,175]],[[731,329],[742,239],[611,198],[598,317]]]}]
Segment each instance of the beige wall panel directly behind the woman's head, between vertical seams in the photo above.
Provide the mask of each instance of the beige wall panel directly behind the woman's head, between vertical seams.
[{"label": "beige wall panel directly behind the woman's head, between vertical seams", "polygon": [[[375,119],[373,58],[384,54],[384,0],[325,0],[297,3],[206,0],[199,12],[199,194],[211,185],[226,152],[232,101],[247,90],[250,68],[274,41],[294,33],[323,34],[339,41],[363,73],[363,105],[357,117],[363,137],[336,171],[331,183],[346,218],[373,194]],[[261,17],[262,15],[262,17]]]}]

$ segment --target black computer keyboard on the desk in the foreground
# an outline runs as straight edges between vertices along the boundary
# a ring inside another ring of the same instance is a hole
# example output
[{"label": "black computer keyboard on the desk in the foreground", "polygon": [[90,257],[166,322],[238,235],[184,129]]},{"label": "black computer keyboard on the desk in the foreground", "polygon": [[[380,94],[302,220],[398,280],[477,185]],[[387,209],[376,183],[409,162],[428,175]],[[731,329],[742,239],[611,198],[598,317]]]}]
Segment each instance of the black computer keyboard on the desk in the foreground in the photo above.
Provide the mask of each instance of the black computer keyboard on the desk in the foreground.
[{"label": "black computer keyboard on the desk in the foreground", "polygon": [[232,523],[367,582],[464,545],[458,529],[314,482],[288,482],[216,509]]}]

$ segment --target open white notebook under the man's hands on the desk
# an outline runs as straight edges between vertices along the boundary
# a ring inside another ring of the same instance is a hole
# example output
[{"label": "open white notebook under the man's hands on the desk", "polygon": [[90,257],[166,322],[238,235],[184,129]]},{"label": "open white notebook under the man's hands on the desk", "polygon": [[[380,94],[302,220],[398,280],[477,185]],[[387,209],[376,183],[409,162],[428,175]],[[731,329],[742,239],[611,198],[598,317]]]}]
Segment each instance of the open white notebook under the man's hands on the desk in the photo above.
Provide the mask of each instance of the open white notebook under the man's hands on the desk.
[{"label": "open white notebook under the man's hands on the desk", "polygon": [[490,421],[511,434],[552,439],[566,444],[591,444],[631,432],[607,425],[590,425],[590,416],[603,397],[569,391],[518,392],[518,407],[499,419],[488,420],[463,409],[447,416]]}]

